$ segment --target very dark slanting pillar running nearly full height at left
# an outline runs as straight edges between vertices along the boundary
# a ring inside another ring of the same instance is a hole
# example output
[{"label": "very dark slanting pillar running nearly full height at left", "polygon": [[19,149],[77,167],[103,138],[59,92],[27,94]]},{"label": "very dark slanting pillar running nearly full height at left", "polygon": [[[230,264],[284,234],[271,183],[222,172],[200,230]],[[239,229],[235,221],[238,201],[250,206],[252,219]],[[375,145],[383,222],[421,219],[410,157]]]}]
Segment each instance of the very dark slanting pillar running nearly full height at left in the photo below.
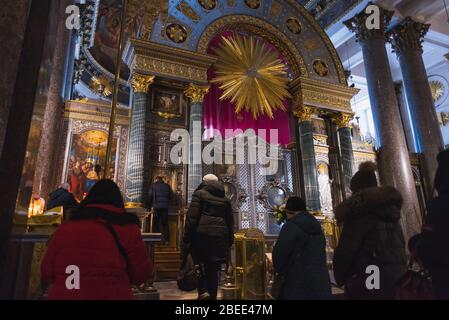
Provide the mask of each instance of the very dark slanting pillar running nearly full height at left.
[{"label": "very dark slanting pillar running nearly full height at left", "polygon": [[[51,0],[39,0],[31,3],[23,47],[21,52],[16,52],[17,55],[20,55],[19,67],[0,158],[0,203],[2,204],[0,210],[0,276],[3,276],[0,282],[0,299],[9,297],[8,288],[3,285],[3,279],[8,275],[3,273],[3,268],[8,255],[14,209],[35,104],[50,4]],[[11,6],[15,5],[16,2],[11,4]]]}]

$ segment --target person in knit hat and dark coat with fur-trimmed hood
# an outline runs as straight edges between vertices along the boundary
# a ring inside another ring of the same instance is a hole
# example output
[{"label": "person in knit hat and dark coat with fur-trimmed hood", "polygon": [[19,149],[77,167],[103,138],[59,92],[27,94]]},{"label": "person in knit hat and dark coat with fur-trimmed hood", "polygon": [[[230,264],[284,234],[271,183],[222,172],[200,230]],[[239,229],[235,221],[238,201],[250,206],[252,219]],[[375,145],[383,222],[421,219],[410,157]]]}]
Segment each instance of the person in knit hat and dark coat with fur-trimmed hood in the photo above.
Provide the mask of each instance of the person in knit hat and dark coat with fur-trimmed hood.
[{"label": "person in knit hat and dark coat with fur-trimmed hood", "polygon": [[[362,163],[351,180],[352,197],[336,208],[343,225],[334,252],[334,276],[345,285],[348,299],[394,299],[397,282],[405,274],[405,239],[399,223],[402,196],[393,187],[378,187],[376,166]],[[368,289],[367,267],[379,268],[380,288]]]}]

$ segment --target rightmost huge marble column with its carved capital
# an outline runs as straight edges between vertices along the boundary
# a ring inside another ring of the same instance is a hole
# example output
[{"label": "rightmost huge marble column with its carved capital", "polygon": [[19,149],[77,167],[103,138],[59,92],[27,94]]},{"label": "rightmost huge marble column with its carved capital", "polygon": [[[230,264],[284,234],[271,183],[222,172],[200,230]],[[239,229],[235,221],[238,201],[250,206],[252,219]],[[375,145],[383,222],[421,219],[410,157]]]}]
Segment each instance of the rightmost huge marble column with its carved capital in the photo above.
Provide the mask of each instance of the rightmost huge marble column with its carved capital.
[{"label": "rightmost huge marble column with its carved capital", "polygon": [[390,43],[401,65],[407,102],[418,152],[424,155],[422,162],[427,198],[433,196],[433,180],[437,170],[437,155],[443,150],[438,117],[435,110],[427,72],[422,58],[423,38],[430,25],[405,18],[390,31]]}]

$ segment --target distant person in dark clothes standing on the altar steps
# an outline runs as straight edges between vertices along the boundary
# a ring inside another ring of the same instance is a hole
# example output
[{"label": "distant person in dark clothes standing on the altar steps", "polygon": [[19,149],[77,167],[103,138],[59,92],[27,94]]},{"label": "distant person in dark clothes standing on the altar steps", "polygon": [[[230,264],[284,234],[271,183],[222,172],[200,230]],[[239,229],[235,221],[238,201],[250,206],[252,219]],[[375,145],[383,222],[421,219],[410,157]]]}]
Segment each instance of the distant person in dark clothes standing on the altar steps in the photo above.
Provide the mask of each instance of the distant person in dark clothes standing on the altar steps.
[{"label": "distant person in dark clothes standing on the altar steps", "polygon": [[157,177],[156,182],[153,183],[148,192],[150,207],[154,209],[156,217],[155,226],[156,232],[160,232],[162,225],[162,237],[165,244],[170,240],[170,229],[168,226],[168,207],[170,199],[173,196],[173,191],[170,186],[164,182],[162,177]]}]

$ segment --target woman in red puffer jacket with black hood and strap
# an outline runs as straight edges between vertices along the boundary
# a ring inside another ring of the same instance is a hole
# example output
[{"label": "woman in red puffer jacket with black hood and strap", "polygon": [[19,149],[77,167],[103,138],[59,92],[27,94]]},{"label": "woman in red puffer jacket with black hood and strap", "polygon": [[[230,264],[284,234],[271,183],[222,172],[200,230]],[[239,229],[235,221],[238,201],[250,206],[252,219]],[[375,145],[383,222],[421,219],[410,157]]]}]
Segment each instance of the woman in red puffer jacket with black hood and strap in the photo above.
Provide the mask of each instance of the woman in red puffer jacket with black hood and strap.
[{"label": "woman in red puffer jacket with black hood and strap", "polygon": [[49,242],[41,265],[48,299],[132,299],[131,285],[153,276],[139,226],[117,185],[97,182]]}]

